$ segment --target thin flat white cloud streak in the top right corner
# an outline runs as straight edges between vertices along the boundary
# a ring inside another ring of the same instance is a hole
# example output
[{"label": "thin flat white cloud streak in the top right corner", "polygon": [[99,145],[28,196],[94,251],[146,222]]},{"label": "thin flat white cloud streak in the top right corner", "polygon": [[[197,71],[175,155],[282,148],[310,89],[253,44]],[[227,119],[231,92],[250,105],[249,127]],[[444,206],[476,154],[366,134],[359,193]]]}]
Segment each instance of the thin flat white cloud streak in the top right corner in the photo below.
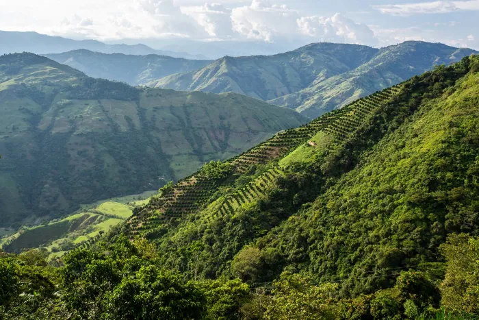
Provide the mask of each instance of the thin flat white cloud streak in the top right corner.
[{"label": "thin flat white cloud streak in the top right corner", "polygon": [[397,5],[373,5],[383,14],[393,16],[411,16],[413,14],[439,14],[458,10],[479,10],[479,0],[471,1],[432,1],[421,3],[405,3]]}]

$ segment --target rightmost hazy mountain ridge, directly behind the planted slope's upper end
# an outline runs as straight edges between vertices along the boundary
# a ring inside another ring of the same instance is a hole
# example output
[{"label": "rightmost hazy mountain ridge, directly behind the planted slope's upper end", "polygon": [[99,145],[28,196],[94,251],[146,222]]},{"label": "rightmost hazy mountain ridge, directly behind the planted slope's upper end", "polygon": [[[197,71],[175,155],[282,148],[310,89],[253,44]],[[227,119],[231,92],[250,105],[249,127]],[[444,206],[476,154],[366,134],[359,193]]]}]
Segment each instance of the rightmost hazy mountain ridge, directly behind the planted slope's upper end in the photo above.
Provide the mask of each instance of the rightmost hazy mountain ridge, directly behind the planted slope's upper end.
[{"label": "rightmost hazy mountain ridge, directly behind the planted slope's upper end", "polygon": [[457,62],[471,53],[477,51],[440,43],[407,41],[380,49],[372,60],[353,71],[324,79],[298,93],[270,102],[315,117],[420,75],[435,65]]}]

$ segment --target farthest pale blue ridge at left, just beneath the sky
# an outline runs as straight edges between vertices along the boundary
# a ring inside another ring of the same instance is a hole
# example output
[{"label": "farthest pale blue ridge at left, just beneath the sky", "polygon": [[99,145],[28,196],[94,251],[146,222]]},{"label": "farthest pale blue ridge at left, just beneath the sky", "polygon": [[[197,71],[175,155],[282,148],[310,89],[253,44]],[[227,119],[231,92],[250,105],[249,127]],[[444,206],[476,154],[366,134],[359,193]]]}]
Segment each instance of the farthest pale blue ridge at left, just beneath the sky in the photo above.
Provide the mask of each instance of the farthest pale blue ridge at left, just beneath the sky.
[{"label": "farthest pale blue ridge at left, just beneath the sky", "polygon": [[72,40],[60,36],[47,36],[37,32],[0,31],[0,54],[31,52],[36,54],[62,53],[77,49],[87,49],[101,53],[124,53],[145,56],[157,54],[173,58],[203,60],[205,56],[185,52],[155,50],[146,45],[107,45],[96,40]]}]

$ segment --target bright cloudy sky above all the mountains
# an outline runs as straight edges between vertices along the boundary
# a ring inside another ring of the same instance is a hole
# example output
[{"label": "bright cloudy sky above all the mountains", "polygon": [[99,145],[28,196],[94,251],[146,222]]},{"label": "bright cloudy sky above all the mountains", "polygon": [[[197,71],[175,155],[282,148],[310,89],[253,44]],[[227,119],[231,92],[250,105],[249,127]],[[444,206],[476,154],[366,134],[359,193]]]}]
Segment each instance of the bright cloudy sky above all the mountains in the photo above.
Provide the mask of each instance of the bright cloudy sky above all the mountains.
[{"label": "bright cloudy sky above all the mountains", "polygon": [[479,0],[0,0],[0,30],[105,42],[405,40],[479,49]]}]

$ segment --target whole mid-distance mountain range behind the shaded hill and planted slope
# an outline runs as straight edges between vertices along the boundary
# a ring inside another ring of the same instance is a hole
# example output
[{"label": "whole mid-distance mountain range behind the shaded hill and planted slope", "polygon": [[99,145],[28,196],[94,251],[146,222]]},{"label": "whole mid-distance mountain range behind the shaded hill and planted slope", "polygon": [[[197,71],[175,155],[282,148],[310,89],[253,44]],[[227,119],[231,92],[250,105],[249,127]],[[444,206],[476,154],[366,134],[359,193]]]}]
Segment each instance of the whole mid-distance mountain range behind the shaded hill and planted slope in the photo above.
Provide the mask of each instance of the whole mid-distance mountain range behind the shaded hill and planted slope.
[{"label": "whole mid-distance mountain range behind the shaded hill and planted slope", "polygon": [[92,77],[174,90],[240,93],[315,118],[476,52],[407,41],[381,49],[322,42],[273,56],[226,56],[215,61],[86,50],[47,57]]}]

